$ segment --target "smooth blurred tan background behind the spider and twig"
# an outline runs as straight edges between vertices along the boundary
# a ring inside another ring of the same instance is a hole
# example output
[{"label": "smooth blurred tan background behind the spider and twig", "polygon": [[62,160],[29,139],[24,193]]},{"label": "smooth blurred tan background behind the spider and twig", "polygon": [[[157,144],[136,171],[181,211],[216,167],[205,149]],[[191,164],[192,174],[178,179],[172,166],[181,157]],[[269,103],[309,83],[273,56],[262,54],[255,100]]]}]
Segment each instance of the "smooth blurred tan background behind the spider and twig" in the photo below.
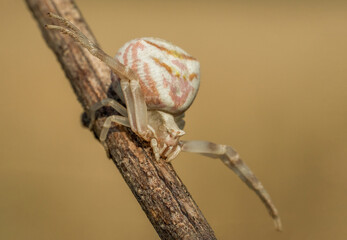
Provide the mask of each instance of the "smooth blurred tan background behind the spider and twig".
[{"label": "smooth blurred tan background behind the spider and twig", "polygon": [[[235,147],[284,227],[221,162],[182,153],[218,239],[347,239],[346,2],[76,2],[111,55],[154,36],[200,60],[184,139]],[[0,0],[0,19],[0,239],[158,239],[24,1]]]}]

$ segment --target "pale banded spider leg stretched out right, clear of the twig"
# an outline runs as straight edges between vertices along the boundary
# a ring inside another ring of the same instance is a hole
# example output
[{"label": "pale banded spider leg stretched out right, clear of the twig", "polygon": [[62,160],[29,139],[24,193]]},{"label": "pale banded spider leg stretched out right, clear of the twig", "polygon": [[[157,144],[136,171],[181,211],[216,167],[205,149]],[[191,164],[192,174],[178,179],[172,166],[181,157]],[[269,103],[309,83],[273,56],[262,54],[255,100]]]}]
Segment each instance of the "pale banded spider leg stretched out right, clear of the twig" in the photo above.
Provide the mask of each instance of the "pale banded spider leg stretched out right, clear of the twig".
[{"label": "pale banded spider leg stretched out right, clear of the twig", "polygon": [[200,153],[205,156],[221,159],[249,188],[256,192],[273,218],[275,228],[277,230],[282,229],[281,219],[270,195],[233,148],[207,141],[181,141],[181,143],[183,144],[182,151]]}]

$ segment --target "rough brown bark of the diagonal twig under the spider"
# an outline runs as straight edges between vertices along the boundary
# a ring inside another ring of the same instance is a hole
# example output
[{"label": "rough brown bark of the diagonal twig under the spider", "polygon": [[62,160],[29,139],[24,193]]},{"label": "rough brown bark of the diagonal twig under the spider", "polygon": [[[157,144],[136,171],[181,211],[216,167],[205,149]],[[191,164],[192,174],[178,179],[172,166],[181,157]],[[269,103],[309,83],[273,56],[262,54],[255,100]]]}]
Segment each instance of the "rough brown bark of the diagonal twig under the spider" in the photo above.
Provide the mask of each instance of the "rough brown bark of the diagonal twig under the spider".
[{"label": "rough brown bark of the diagonal twig under the spider", "polygon": [[[88,38],[96,41],[95,37],[72,0],[26,0],[26,3],[87,111],[107,96],[110,70],[71,38],[45,29],[45,24],[54,23],[47,13],[63,16]],[[101,117],[95,124],[96,136],[99,136],[103,120]],[[113,162],[161,239],[216,239],[172,165],[155,161],[148,143],[117,125],[112,128],[107,145]]]}]

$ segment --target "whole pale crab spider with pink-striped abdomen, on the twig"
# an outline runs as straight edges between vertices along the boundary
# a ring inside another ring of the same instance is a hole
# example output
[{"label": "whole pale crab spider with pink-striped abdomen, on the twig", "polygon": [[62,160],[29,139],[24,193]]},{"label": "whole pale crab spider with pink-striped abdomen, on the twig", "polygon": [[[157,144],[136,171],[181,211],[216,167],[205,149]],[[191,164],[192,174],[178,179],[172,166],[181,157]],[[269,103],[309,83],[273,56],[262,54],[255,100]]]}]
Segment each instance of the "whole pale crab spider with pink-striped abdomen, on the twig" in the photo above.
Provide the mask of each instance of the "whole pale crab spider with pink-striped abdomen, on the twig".
[{"label": "whole pale crab spider with pink-striped abdomen, on the twig", "polygon": [[126,108],[112,98],[94,104],[90,109],[91,129],[95,113],[104,106],[120,115],[106,118],[99,139],[106,147],[107,133],[113,122],[131,128],[149,142],[157,161],[167,162],[181,151],[219,158],[233,170],[263,201],[281,230],[281,220],[270,195],[238,153],[230,146],[207,141],[182,141],[184,112],[192,104],[199,88],[199,62],[183,49],[158,38],[138,38],[127,42],[112,58],[89,40],[68,20],[48,13],[60,25],[46,25],[72,37],[111,68],[112,88]]}]

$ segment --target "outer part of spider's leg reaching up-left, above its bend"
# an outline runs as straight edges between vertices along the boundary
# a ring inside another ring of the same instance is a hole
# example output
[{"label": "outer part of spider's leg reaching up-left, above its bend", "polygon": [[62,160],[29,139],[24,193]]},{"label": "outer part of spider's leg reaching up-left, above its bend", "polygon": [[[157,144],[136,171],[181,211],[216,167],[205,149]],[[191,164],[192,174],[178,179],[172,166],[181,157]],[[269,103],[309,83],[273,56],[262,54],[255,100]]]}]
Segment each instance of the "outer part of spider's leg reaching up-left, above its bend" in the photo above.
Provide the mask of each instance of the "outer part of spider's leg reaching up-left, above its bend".
[{"label": "outer part of spider's leg reaching up-left, above its bend", "polygon": [[89,40],[75,25],[53,13],[48,13],[53,19],[56,19],[63,26],[58,25],[46,25],[47,29],[58,30],[63,34],[67,34],[72,37],[76,42],[85,47],[92,55],[99,58],[106,63],[114,73],[119,77],[127,79],[136,79],[136,74],[129,68],[125,67],[118,60],[106,54],[101,48],[97,46],[93,41]]}]

